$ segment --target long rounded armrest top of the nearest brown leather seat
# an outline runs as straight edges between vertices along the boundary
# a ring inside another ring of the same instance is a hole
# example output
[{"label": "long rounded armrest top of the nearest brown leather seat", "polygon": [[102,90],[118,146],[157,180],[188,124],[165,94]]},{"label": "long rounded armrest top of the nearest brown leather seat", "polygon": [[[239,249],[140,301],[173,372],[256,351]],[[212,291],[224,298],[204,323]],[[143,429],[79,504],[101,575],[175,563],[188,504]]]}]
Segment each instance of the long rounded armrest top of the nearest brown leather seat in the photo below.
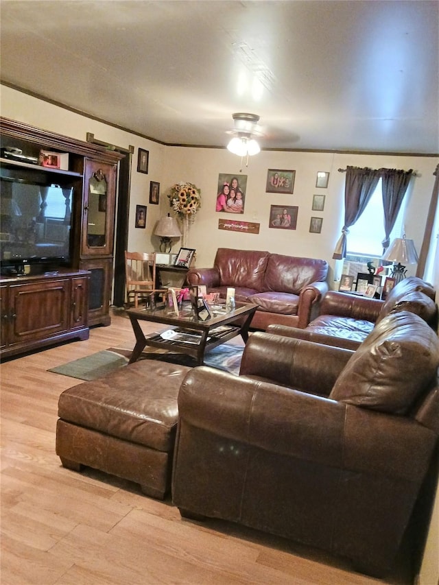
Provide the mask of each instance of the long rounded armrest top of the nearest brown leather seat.
[{"label": "long rounded armrest top of the nearest brown leather seat", "polygon": [[193,368],[182,382],[178,413],[179,427],[324,466],[409,480],[425,473],[436,441],[410,418],[206,366]]}]

